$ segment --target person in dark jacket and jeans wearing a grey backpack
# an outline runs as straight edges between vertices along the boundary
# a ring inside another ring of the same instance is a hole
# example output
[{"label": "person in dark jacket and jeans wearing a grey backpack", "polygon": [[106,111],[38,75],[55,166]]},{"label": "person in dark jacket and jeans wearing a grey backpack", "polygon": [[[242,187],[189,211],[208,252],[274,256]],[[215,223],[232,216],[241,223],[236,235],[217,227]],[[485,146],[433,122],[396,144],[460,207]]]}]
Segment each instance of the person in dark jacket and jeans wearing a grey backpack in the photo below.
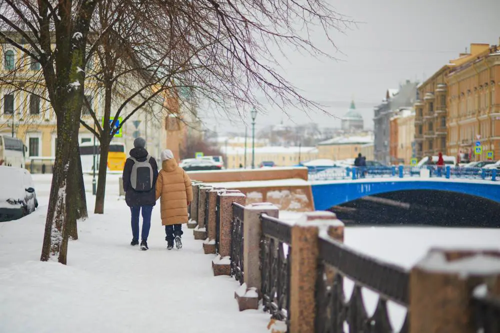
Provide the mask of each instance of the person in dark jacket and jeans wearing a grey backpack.
[{"label": "person in dark jacket and jeans wearing a grey backpack", "polygon": [[151,212],[156,204],[154,197],[158,166],[153,157],[145,149],[146,141],[138,137],[133,141],[130,157],[123,167],[123,190],[125,202],[130,207],[132,241],[130,245],[139,244],[139,215],[142,213],[142,233],[140,249],[147,250],[147,236],[151,227]]}]

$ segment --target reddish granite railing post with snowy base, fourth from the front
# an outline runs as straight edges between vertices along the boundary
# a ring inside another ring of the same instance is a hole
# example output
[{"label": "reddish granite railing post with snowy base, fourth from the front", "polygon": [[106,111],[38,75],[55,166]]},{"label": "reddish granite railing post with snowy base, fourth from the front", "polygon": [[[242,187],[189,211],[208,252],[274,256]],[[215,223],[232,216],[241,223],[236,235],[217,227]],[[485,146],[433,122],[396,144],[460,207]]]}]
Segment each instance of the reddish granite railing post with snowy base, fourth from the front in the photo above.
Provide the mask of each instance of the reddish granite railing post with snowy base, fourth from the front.
[{"label": "reddish granite railing post with snowy base, fourth from the front", "polygon": [[246,196],[237,190],[226,190],[220,194],[219,254],[212,260],[213,275],[230,275],[231,272],[231,222],[232,203],[245,205]]}]

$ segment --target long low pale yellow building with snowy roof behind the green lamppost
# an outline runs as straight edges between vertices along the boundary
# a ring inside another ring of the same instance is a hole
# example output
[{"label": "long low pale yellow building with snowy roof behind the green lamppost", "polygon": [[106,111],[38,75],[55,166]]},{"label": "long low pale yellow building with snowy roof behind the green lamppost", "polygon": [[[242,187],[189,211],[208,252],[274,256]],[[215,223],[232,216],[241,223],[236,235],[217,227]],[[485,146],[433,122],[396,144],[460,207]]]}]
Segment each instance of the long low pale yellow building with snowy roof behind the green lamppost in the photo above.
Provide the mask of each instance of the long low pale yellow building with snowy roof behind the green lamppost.
[{"label": "long low pale yellow building with snowy roof behind the green lamppost", "polygon": [[[245,149],[243,147],[222,146],[222,153],[226,156],[228,169],[244,166]],[[259,167],[262,162],[274,162],[276,166],[293,166],[300,162],[317,159],[317,149],[315,147],[255,147],[255,167]],[[246,167],[251,167],[252,149],[246,149]]]}]

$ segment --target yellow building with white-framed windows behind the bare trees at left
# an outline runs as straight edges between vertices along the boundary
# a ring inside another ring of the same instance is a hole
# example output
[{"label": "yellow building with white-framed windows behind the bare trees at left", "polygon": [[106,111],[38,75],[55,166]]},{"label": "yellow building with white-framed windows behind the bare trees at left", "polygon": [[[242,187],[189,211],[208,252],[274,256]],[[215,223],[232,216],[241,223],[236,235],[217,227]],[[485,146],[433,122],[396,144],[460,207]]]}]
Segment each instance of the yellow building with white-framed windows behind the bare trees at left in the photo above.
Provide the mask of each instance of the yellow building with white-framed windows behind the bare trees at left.
[{"label": "yellow building with white-framed windows behind the bare trees at left", "polygon": [[[13,38],[20,44],[24,41],[16,35]],[[29,45],[23,45],[27,49]],[[39,63],[24,55],[20,50],[8,43],[1,45],[0,76],[0,133],[12,135],[24,141],[27,147],[26,164],[30,159],[53,160],[57,140],[56,117],[49,102],[47,91],[44,88],[44,78]],[[55,47],[55,45],[52,45]],[[89,61],[86,70],[92,70]],[[9,82],[9,83],[4,83]],[[129,92],[115,92],[112,101],[111,116],[119,104],[127,97]],[[103,93],[99,91],[97,83],[91,78],[85,80],[85,95],[99,117],[103,110]],[[135,99],[123,109],[122,116],[127,115],[127,110],[139,105]],[[161,106],[160,106],[161,108]],[[122,137],[114,138],[113,142],[125,143],[129,149],[137,135],[146,138],[151,154],[159,156],[166,144],[165,120],[154,117],[147,108],[141,108],[122,127]],[[85,106],[82,108],[82,120],[90,126],[93,120]],[[93,134],[80,126],[78,140],[80,143],[89,142]]]}]

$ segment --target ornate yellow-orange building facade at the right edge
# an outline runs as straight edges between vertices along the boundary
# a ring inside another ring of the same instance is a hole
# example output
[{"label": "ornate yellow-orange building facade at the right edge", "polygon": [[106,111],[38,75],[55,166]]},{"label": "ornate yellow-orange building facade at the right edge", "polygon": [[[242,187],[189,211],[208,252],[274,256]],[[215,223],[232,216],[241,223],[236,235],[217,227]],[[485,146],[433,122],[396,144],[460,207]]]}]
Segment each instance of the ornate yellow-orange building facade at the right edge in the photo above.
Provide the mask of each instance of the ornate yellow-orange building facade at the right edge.
[{"label": "ornate yellow-orange building facade at the right edge", "polygon": [[485,160],[487,152],[496,160],[500,158],[500,47],[471,44],[471,53],[468,61],[455,65],[446,77],[447,150],[462,162],[466,157]]}]

